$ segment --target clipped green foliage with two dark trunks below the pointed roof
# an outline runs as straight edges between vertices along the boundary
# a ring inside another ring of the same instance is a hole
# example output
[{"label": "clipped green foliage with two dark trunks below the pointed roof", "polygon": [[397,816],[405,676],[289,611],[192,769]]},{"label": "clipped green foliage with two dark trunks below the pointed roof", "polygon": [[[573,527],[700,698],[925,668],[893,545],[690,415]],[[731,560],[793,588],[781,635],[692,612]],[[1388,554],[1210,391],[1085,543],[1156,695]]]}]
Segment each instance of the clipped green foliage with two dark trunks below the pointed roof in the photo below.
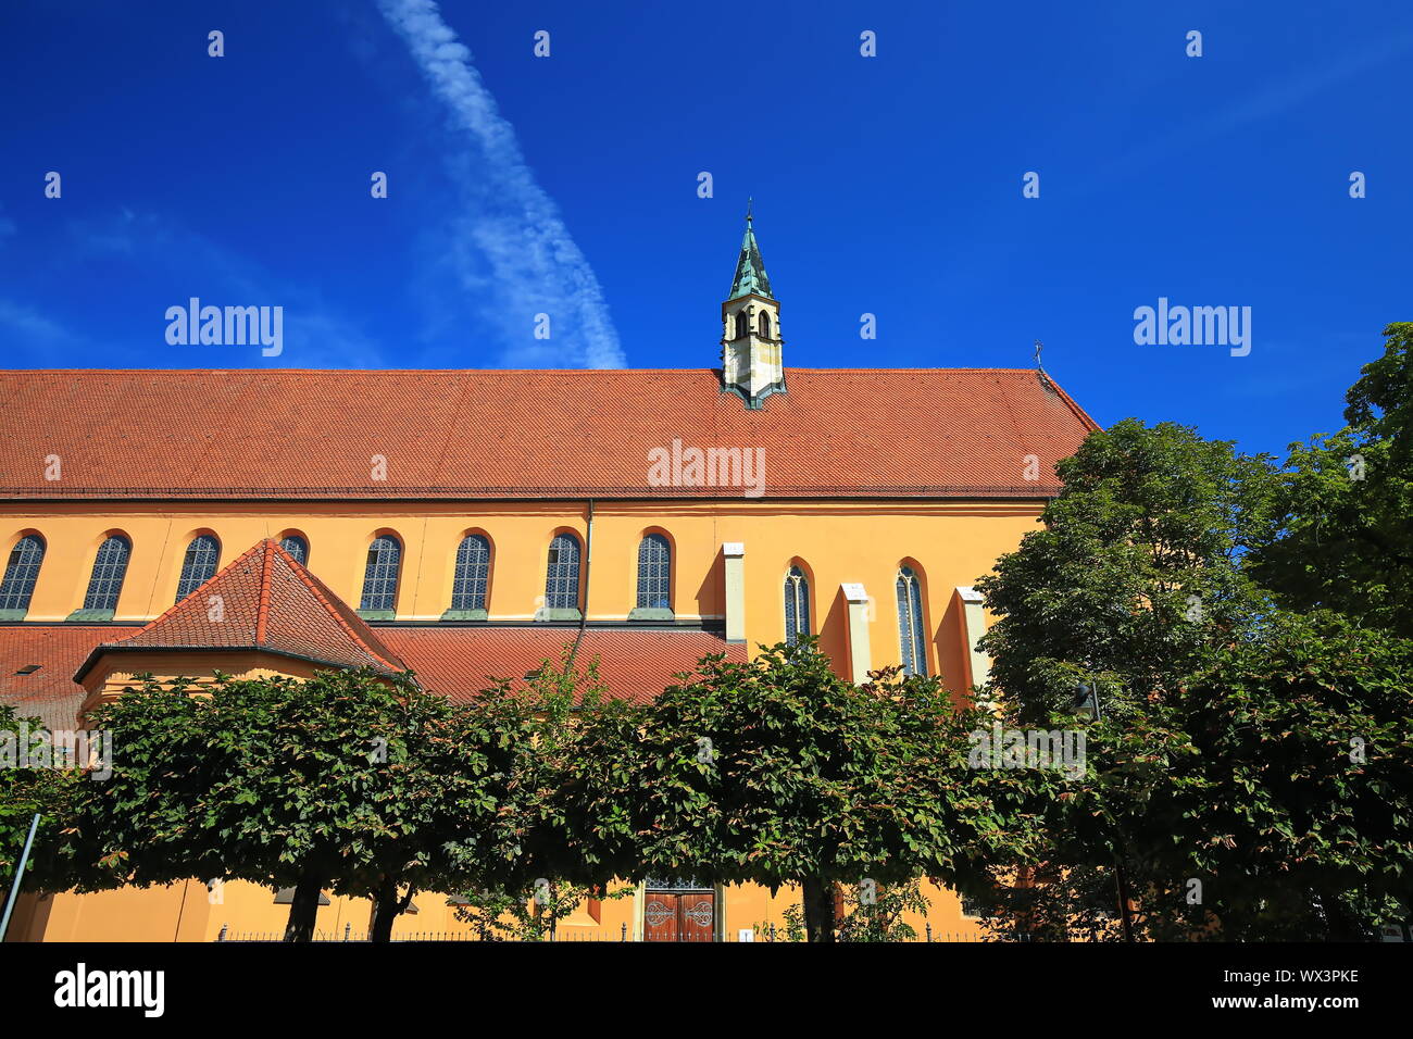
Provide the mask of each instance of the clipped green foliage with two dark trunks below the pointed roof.
[{"label": "clipped green foliage with two dark trunks below the pointed roof", "polygon": [[410,677],[356,671],[191,691],[148,679],[95,712],[117,755],[69,818],[81,886],[294,888],[287,941],[312,936],[329,888],[373,899],[386,940],[414,891],[510,874],[514,762],[534,735],[524,703],[454,708]]}]

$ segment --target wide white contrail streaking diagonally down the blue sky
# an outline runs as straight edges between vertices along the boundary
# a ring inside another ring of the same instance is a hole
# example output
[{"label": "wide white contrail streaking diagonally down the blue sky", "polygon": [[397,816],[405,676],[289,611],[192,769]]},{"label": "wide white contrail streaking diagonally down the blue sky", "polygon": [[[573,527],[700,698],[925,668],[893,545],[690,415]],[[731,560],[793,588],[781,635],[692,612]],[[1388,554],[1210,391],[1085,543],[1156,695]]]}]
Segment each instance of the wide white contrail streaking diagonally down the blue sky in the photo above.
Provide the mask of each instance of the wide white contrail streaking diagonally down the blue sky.
[{"label": "wide white contrail streaking diagonally down the blue sky", "polygon": [[[456,41],[432,0],[379,0],[379,7],[485,158],[486,168],[478,168],[476,178],[490,184],[476,188],[490,188],[482,198],[497,212],[478,212],[458,228],[490,264],[500,297],[496,314],[512,342],[524,341],[514,352],[562,359],[568,349],[589,368],[623,368],[599,280],[558,206],[526,165],[514,127],[496,110],[471,51]],[[541,312],[550,315],[548,341],[533,339],[534,315]]]}]

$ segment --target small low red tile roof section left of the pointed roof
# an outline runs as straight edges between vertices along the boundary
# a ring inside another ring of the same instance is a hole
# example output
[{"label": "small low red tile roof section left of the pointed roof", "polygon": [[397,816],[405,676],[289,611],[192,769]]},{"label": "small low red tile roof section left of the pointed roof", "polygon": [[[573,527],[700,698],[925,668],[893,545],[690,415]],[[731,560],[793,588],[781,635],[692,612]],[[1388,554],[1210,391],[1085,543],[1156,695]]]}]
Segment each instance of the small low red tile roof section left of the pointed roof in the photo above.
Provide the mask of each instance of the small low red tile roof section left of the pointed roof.
[{"label": "small low red tile roof section left of the pointed roof", "polygon": [[[113,625],[0,625],[0,703],[21,718],[42,718],[51,729],[71,729],[86,695],[73,671],[93,646],[131,635]],[[16,674],[40,664],[32,674]]]}]

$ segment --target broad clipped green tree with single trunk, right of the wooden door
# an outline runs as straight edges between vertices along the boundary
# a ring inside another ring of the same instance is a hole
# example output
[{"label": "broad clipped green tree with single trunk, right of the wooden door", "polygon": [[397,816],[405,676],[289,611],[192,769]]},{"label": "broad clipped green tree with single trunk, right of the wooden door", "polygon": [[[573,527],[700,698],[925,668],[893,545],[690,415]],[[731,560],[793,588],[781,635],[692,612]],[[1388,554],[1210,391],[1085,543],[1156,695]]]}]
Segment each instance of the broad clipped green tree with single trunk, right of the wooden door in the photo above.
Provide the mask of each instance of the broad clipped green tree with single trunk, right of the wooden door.
[{"label": "broad clipped green tree with single trunk, right of the wooden door", "polygon": [[650,707],[584,718],[552,799],[584,879],[798,885],[808,939],[832,941],[835,885],[979,875],[1027,835],[1029,780],[966,768],[989,715],[934,679],[855,687],[812,640],[678,679]]}]

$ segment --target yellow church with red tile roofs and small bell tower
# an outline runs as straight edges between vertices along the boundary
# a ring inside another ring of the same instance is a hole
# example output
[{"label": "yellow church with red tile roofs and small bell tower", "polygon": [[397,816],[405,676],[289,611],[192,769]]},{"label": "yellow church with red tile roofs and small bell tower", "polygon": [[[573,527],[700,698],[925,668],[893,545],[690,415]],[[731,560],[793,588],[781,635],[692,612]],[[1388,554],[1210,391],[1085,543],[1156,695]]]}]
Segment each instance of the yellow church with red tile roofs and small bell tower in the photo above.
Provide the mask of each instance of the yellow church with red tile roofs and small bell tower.
[{"label": "yellow church with red tile roofs and small bell tower", "polygon": [[[708,653],[804,635],[848,680],[983,681],[971,585],[1094,420],[1039,369],[786,368],[749,218],[719,328],[719,368],[690,370],[0,373],[0,701],[75,729],[136,674],[357,666],[456,701],[575,642],[643,701]],[[927,893],[934,933],[975,932]],[[763,940],[797,902],[656,878],[561,934]],[[469,932],[445,895],[414,903],[394,937]],[[208,941],[287,916],[287,893],[194,878],[28,895],[8,937]],[[369,919],[331,895],[318,929]]]}]

